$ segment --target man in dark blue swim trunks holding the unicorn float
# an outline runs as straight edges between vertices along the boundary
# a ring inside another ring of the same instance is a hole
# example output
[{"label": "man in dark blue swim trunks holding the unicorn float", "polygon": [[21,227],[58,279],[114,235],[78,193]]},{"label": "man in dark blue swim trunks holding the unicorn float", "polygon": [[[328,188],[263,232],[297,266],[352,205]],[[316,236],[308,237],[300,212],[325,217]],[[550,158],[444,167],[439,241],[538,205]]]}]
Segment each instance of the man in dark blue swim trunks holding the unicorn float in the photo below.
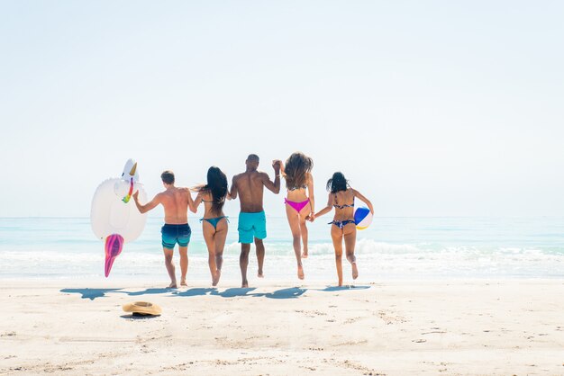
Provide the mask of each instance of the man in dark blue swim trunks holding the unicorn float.
[{"label": "man in dark blue swim trunks holding the unicorn float", "polygon": [[167,266],[170,285],[168,288],[177,288],[177,276],[172,255],[174,246],[178,243],[180,251],[180,284],[186,286],[186,273],[188,271],[188,243],[192,230],[188,225],[188,207],[193,208],[194,201],[188,188],[177,188],[174,186],[174,173],[165,171],[160,175],[164,192],[157,194],[151,201],[141,205],[138,200],[139,191],[133,194],[135,205],[141,213],[154,209],[161,204],[165,208],[165,225],[160,229],[162,234],[162,247],[165,254],[165,265]]}]

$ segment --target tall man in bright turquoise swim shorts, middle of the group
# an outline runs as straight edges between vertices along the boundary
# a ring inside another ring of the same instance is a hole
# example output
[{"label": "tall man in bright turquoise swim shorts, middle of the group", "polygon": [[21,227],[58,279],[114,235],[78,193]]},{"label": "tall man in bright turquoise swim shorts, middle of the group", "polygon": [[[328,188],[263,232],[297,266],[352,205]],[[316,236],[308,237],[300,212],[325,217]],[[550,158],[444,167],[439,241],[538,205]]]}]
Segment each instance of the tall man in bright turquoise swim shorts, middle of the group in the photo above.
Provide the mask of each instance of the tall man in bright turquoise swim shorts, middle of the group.
[{"label": "tall man in bright turquoise swim shorts, middle of the group", "polygon": [[270,180],[267,173],[257,171],[259,168],[259,156],[250,154],[245,161],[247,170],[239,175],[233,176],[230,195],[232,199],[237,198],[241,202],[239,213],[239,243],[241,243],[241,255],[239,265],[241,266],[242,287],[249,287],[247,281],[247,266],[249,265],[250,243],[255,242],[257,247],[257,260],[259,262],[259,278],[263,277],[262,265],[264,264],[264,244],[262,239],[267,237],[267,219],[262,208],[262,195],[264,187],[278,194],[280,192],[280,166],[281,161],[272,162],[275,178]]}]

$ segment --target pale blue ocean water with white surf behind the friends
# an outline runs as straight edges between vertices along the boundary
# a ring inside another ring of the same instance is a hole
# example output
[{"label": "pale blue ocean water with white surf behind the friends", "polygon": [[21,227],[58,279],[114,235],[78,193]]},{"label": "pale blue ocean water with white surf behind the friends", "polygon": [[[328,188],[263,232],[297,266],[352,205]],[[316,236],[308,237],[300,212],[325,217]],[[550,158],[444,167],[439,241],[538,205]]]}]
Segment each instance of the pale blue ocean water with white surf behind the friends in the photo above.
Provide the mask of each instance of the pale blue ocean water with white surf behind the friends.
[{"label": "pale blue ocean water with white surf behind the friends", "polygon": [[[231,218],[223,280],[240,279],[237,219]],[[335,282],[326,222],[308,224],[306,281]],[[202,225],[190,219],[188,281],[209,279]],[[140,238],[123,247],[109,279],[166,281],[162,219],[149,218]],[[268,217],[265,274],[297,282],[286,218]],[[256,278],[251,248],[249,276]],[[564,278],[564,218],[375,218],[357,233],[358,282],[450,278]],[[0,279],[105,280],[104,243],[88,218],[0,218]],[[175,262],[178,263],[177,254]],[[343,257],[345,283],[350,265]],[[179,273],[177,265],[177,273]]]}]

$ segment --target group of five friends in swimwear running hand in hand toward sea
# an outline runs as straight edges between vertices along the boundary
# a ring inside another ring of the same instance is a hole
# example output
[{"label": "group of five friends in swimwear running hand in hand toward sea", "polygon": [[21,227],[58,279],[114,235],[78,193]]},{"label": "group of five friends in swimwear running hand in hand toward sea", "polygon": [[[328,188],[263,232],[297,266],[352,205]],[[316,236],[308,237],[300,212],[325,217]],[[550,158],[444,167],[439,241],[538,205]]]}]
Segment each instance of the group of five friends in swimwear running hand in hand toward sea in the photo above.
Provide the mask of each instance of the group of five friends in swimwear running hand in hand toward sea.
[{"label": "group of five friends in swimwear running hand in hand toward sea", "polygon": [[[312,168],[314,162],[311,157],[304,153],[296,152],[287,158],[286,164],[281,160],[272,161],[274,169],[274,182],[270,180],[267,173],[261,172],[259,168],[259,157],[250,154],[245,161],[245,172],[232,178],[231,188],[227,183],[227,176],[219,167],[212,166],[207,171],[207,184],[201,184],[192,188],[181,188],[175,186],[175,175],[171,171],[165,171],[160,175],[165,191],[159,192],[155,197],[142,204],[139,201],[139,192],[133,194],[133,199],[138,210],[145,213],[154,209],[159,204],[165,210],[165,224],[161,228],[162,246],[165,255],[165,264],[170,277],[170,288],[177,287],[175,266],[172,262],[173,250],[178,244],[180,254],[180,284],[186,286],[186,273],[188,269],[188,243],[192,234],[188,225],[187,210],[196,213],[198,206],[204,204],[205,213],[202,221],[205,244],[208,249],[208,264],[212,275],[214,286],[220,280],[223,265],[223,247],[229,228],[229,220],[223,213],[223,204],[226,200],[235,200],[239,197],[241,212],[239,213],[239,243],[241,243],[241,255],[239,264],[241,266],[242,287],[249,287],[247,280],[247,267],[249,265],[250,244],[256,246],[257,260],[259,264],[258,276],[263,278],[263,265],[265,247],[263,239],[267,237],[267,220],[263,209],[263,192],[266,187],[268,191],[277,194],[280,192],[280,175],[286,180],[287,197],[285,199],[287,220],[290,226],[294,252],[296,253],[297,277],[305,278],[302,259],[308,256],[308,234],[306,222],[313,222],[316,218],[335,210],[332,219],[331,237],[335,249],[335,262],[339,286],[342,285],[342,245],[344,242],[347,260],[351,264],[352,278],[359,276],[354,247],[356,243],[357,228],[354,222],[354,201],[359,199],[368,205],[371,213],[374,213],[372,204],[360,192],[352,189],[341,172],[336,172],[327,182],[329,197],[327,205],[315,212],[314,200],[314,177]],[[192,197],[196,193],[196,199]]]}]

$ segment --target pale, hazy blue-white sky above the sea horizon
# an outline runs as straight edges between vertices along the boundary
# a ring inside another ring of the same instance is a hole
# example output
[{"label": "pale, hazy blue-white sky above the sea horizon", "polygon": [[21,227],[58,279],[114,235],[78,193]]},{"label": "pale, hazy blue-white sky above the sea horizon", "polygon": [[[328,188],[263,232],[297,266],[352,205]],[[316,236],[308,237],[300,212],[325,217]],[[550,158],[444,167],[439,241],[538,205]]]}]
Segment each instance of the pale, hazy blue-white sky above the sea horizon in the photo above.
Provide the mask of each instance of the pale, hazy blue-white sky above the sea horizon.
[{"label": "pale, hazy blue-white sky above the sea horizon", "polygon": [[561,215],[562,19],[559,1],[1,1],[0,216],[87,216],[128,157],[152,196],[167,168],[196,184],[295,150],[318,208],[341,170],[382,216]]}]

